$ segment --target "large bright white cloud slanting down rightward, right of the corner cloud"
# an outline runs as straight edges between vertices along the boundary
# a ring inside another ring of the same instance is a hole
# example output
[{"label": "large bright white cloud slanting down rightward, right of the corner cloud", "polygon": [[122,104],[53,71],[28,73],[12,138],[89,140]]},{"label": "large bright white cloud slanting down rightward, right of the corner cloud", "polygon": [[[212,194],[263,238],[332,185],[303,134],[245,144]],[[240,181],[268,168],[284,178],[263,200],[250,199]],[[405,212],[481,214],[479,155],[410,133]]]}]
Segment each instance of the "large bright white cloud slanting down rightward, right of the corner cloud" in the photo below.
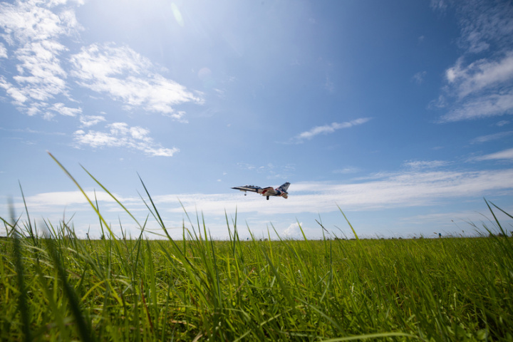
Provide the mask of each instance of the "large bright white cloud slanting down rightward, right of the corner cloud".
[{"label": "large bright white cloud slanting down rightward, right of the corner cloud", "polygon": [[173,107],[181,103],[203,103],[175,81],[152,73],[152,63],[127,46],[93,44],[71,56],[72,75],[81,86],[106,93],[127,108],[143,108],[182,120],[184,113]]}]

